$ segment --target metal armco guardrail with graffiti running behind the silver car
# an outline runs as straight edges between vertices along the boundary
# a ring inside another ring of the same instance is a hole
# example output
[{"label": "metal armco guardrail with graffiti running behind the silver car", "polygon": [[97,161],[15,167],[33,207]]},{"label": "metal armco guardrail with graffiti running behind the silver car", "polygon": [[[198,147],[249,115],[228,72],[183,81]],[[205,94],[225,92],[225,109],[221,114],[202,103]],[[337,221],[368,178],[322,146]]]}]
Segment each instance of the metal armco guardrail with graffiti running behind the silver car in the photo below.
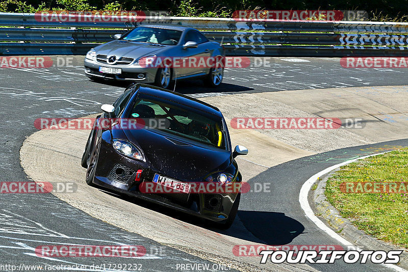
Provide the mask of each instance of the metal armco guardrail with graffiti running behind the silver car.
[{"label": "metal armco guardrail with graffiti running behind the silver car", "polygon": [[228,56],[406,56],[408,53],[408,35],[404,35],[408,33],[408,23],[188,17],[62,22],[43,21],[35,14],[0,13],[0,26],[3,26],[0,55],[84,55],[95,43],[111,41],[114,34],[142,24],[199,29],[208,39],[222,42]]}]

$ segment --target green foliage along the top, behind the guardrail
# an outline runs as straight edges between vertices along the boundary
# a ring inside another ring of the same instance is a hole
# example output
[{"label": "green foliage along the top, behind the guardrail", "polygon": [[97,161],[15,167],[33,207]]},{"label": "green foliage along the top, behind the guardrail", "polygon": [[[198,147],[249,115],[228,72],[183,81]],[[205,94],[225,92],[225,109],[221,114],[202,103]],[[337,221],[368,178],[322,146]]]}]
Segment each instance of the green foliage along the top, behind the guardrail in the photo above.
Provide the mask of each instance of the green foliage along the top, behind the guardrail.
[{"label": "green foliage along the top, behind the guardrail", "polygon": [[406,21],[408,0],[2,0],[2,12],[37,10],[154,10],[173,16],[230,17],[235,10],[365,10],[372,20]]}]

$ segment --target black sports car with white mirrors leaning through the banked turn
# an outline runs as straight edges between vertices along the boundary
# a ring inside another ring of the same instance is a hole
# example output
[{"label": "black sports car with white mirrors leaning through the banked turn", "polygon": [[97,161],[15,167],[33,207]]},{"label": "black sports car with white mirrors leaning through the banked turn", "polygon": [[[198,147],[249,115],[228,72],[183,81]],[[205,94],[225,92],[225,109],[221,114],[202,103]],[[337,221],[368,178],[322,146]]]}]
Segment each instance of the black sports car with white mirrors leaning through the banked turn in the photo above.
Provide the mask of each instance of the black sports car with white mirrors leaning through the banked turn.
[{"label": "black sports car with white mirrors leaning through the banked turn", "polygon": [[89,185],[231,226],[242,181],[234,158],[248,150],[232,150],[218,108],[137,84],[101,109],[82,157]]}]

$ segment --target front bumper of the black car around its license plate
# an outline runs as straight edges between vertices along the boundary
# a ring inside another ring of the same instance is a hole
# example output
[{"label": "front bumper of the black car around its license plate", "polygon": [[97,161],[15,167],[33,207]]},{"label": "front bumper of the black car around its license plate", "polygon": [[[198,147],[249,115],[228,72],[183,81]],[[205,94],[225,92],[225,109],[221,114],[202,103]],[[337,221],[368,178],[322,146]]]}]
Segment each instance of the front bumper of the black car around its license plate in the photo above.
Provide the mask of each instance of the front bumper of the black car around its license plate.
[{"label": "front bumper of the black car around its license plate", "polygon": [[[142,170],[140,181],[135,180],[138,170]],[[141,183],[152,182],[155,174],[160,175],[160,170],[155,169],[149,162],[122,156],[110,143],[101,142],[93,183],[211,221],[219,222],[228,218],[237,193],[147,194],[141,192]]]}]

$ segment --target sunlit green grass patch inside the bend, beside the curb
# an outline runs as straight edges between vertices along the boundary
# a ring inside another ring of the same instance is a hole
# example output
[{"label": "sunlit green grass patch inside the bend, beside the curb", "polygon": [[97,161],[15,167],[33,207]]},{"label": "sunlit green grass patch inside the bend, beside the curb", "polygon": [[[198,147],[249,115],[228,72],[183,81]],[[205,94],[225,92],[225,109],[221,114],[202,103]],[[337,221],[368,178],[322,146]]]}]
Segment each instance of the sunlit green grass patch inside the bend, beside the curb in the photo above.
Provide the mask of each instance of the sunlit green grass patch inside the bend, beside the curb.
[{"label": "sunlit green grass patch inside the bend, beside the curb", "polygon": [[408,194],[350,194],[343,182],[407,182],[408,149],[369,157],[341,167],[327,180],[325,195],[340,214],[378,239],[408,248]]}]

